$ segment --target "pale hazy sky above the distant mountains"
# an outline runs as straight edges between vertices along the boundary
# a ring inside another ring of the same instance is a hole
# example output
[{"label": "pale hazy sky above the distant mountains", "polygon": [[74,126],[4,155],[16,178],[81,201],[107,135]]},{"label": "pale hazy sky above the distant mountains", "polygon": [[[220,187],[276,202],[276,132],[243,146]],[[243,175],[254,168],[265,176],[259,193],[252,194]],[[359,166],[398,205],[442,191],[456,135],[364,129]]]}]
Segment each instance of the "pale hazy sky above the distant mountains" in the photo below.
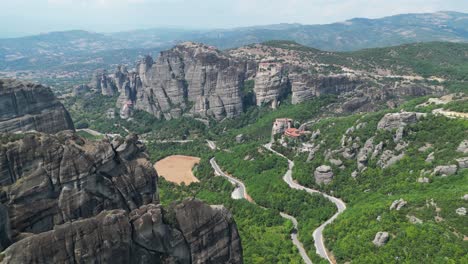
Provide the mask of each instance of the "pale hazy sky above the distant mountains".
[{"label": "pale hazy sky above the distant mountains", "polygon": [[324,24],[441,10],[468,12],[468,0],[0,0],[0,37],[84,29],[228,28]]}]

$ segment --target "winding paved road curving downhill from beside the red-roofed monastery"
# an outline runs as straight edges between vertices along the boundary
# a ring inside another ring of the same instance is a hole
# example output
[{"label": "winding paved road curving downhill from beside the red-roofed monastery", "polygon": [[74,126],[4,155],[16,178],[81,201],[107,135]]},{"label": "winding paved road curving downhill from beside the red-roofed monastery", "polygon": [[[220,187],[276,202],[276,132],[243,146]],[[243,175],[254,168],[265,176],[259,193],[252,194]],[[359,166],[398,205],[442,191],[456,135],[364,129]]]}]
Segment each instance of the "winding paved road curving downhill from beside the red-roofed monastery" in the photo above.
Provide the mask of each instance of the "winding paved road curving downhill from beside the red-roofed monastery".
[{"label": "winding paved road curving downhill from beside the red-roofed monastery", "polygon": [[264,145],[264,147],[266,149],[268,149],[269,151],[275,153],[276,155],[285,158],[288,161],[288,171],[284,174],[283,180],[289,185],[290,188],[297,189],[297,190],[304,190],[304,191],[306,191],[308,193],[319,193],[319,194],[323,195],[325,198],[327,198],[328,200],[330,200],[332,203],[334,203],[336,208],[338,209],[338,212],[336,212],[330,219],[328,219],[327,221],[325,221],[325,223],[323,223],[317,229],[315,229],[313,234],[312,234],[312,236],[314,237],[315,249],[316,249],[317,254],[319,254],[322,258],[327,259],[328,262],[333,263],[331,258],[330,258],[330,255],[329,255],[329,253],[327,251],[327,248],[325,247],[325,243],[323,241],[323,230],[325,229],[325,227],[327,225],[329,225],[331,222],[333,222],[333,220],[335,220],[338,217],[338,215],[340,215],[344,210],[346,210],[346,204],[341,199],[330,196],[330,195],[328,195],[326,193],[322,193],[322,192],[320,192],[318,190],[314,190],[314,189],[304,187],[304,186],[294,182],[294,180],[292,178],[292,169],[294,167],[294,162],[292,160],[288,159],[283,154],[281,154],[281,153],[277,152],[276,150],[272,149],[271,148],[271,143],[268,143],[268,144]]}]

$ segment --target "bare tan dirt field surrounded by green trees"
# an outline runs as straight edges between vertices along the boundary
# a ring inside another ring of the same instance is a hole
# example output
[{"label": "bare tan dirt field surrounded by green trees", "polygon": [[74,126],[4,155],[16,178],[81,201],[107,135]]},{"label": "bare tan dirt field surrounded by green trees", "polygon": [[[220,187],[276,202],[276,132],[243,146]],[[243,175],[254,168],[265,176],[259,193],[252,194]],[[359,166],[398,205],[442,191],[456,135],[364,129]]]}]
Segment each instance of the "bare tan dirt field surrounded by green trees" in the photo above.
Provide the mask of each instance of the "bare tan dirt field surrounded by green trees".
[{"label": "bare tan dirt field surrounded by green trees", "polygon": [[154,164],[154,168],[160,177],[167,181],[189,185],[192,182],[198,182],[198,179],[192,173],[193,167],[200,162],[200,158],[174,155],[166,157]]}]

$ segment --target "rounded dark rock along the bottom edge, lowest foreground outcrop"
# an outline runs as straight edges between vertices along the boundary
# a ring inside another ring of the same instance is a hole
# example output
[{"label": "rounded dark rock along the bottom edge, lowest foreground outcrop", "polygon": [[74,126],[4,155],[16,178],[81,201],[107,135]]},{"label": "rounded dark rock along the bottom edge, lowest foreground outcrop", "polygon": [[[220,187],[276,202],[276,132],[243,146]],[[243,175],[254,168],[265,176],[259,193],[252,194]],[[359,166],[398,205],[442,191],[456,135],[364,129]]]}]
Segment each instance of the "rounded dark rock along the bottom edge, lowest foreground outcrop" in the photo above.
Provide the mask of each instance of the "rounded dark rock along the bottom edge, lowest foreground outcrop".
[{"label": "rounded dark rock along the bottom edge, lowest foreground outcrop", "polygon": [[103,211],[13,244],[3,263],[242,263],[235,223],[220,212],[225,209],[192,200],[170,210],[175,222],[155,204]]}]

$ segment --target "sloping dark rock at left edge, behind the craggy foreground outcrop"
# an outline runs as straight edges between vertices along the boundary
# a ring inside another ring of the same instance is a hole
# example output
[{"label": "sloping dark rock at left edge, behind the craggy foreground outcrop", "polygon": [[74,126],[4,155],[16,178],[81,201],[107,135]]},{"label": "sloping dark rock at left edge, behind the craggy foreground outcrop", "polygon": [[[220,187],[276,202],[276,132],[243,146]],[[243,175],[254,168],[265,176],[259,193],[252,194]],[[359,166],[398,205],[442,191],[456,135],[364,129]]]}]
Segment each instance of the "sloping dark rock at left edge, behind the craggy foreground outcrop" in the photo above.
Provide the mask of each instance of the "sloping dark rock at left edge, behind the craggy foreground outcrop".
[{"label": "sloping dark rock at left edge, behind the craggy foreground outcrop", "polygon": [[68,111],[48,87],[0,79],[0,132],[74,130]]}]

